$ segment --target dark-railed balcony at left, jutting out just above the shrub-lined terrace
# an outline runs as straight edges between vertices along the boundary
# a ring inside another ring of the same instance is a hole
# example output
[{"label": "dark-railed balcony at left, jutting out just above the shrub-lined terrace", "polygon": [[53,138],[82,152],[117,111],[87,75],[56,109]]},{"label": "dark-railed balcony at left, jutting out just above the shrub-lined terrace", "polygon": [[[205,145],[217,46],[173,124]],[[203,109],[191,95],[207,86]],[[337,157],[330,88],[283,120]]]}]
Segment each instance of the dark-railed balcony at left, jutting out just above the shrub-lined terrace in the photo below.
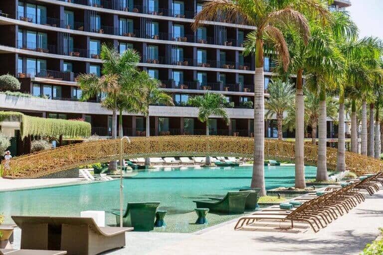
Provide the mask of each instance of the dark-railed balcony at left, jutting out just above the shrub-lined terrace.
[{"label": "dark-railed balcony at left, jutting out just above the shrub-lined terrace", "polygon": [[74,76],[75,74],[72,72],[60,72],[60,71],[36,69],[36,68],[27,68],[25,72],[24,70],[19,69],[17,73],[18,78],[38,77],[38,78],[46,78],[51,80],[69,81],[69,82],[74,82]]}]

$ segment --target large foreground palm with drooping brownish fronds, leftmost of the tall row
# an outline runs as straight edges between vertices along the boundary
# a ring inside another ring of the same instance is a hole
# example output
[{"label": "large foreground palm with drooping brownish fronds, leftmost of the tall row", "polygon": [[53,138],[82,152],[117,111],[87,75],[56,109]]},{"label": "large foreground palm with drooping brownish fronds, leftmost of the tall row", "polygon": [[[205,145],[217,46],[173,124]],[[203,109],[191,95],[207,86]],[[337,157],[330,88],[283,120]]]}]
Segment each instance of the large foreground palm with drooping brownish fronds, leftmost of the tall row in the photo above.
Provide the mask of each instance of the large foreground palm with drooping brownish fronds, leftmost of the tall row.
[{"label": "large foreground palm with drooping brownish fronds, leftmost of the tall row", "polygon": [[264,48],[271,48],[287,70],[290,62],[285,38],[280,28],[295,27],[303,41],[309,39],[309,26],[302,10],[327,13],[320,0],[211,0],[203,4],[202,10],[194,17],[193,29],[202,20],[215,21],[223,17],[227,22],[237,22],[238,17],[256,30],[247,35],[245,55],[255,55],[254,75],[254,163],[251,187],[261,188],[265,195],[264,182]]}]

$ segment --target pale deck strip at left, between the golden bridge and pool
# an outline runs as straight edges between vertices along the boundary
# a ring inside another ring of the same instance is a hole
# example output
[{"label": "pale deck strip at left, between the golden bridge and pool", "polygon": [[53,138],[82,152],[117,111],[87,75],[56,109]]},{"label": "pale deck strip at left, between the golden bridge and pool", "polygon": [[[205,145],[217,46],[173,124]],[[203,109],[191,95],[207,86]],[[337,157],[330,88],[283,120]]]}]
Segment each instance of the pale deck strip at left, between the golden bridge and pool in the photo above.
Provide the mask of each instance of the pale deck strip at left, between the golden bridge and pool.
[{"label": "pale deck strip at left, between the golden bridge and pool", "polygon": [[36,179],[0,178],[0,192],[52,186],[64,186],[80,183],[85,183],[83,178],[38,179],[37,181]]}]

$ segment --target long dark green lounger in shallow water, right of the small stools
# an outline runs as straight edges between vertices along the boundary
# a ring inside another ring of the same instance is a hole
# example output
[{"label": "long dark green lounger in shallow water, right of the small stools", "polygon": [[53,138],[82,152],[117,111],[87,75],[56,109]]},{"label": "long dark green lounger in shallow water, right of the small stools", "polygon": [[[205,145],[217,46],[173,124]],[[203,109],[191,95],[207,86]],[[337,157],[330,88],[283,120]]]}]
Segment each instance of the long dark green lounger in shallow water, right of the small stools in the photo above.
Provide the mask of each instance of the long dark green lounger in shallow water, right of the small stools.
[{"label": "long dark green lounger in shallow water, right of the small stools", "polygon": [[193,201],[197,208],[209,208],[209,212],[224,214],[239,214],[245,211],[246,198],[250,191],[227,192],[221,200],[197,200]]}]

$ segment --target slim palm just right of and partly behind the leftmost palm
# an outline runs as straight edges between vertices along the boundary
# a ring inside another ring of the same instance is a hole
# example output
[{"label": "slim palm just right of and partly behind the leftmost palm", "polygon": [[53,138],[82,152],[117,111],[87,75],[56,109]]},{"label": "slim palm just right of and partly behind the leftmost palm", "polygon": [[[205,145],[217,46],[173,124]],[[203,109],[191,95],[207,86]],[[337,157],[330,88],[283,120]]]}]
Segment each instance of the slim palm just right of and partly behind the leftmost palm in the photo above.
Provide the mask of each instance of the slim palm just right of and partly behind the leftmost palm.
[{"label": "slim palm just right of and partly behind the leftmost palm", "polygon": [[[142,71],[138,77],[139,83],[142,84],[144,90],[144,96],[141,101],[142,113],[146,118],[146,137],[150,136],[150,112],[149,107],[151,105],[167,105],[174,106],[173,98],[167,93],[160,90],[160,82],[153,79],[145,71]],[[150,158],[145,158],[145,165],[150,165]]]}]

